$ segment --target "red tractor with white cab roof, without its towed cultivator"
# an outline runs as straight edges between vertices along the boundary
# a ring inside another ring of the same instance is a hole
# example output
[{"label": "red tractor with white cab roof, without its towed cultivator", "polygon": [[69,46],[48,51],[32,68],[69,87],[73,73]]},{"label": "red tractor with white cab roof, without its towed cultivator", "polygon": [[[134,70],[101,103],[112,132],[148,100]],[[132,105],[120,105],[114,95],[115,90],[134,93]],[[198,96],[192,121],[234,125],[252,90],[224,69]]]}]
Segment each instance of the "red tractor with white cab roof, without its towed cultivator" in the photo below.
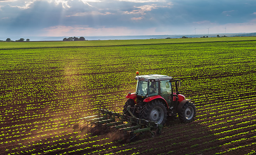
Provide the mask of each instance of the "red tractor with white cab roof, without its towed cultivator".
[{"label": "red tractor with white cab roof, without its towed cultivator", "polygon": [[[195,105],[178,92],[180,80],[165,75],[141,75],[135,77],[135,93],[128,93],[123,113],[163,125],[167,116],[176,116],[182,122],[192,122]],[[174,88],[175,86],[175,88]]]}]

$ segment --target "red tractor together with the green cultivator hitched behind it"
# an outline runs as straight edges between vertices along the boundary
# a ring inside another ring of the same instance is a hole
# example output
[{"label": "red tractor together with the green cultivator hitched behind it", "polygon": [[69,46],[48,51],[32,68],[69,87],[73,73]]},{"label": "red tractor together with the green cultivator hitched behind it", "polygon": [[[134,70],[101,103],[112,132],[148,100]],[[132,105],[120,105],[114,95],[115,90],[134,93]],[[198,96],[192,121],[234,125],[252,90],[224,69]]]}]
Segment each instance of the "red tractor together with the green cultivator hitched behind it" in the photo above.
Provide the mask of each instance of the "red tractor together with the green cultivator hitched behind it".
[{"label": "red tractor together with the green cultivator hitched behind it", "polygon": [[111,131],[128,134],[130,141],[145,131],[149,131],[152,137],[160,135],[167,116],[176,118],[178,114],[182,122],[194,120],[195,105],[178,92],[179,79],[158,74],[136,74],[136,90],[126,95],[128,100],[123,106],[123,114],[99,109],[99,114],[81,118],[80,129],[90,128],[91,133]]}]

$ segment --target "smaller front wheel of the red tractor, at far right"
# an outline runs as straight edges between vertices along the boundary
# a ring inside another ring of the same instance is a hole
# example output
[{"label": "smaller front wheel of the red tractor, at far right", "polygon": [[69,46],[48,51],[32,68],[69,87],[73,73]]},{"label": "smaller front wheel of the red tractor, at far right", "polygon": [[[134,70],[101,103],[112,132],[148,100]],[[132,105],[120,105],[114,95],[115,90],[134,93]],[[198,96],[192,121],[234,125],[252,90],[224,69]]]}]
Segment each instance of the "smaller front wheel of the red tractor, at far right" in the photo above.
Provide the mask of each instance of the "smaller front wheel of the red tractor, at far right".
[{"label": "smaller front wheel of the red tractor, at far right", "polygon": [[195,105],[191,102],[186,102],[182,111],[178,114],[180,121],[182,122],[192,122],[195,119]]}]

